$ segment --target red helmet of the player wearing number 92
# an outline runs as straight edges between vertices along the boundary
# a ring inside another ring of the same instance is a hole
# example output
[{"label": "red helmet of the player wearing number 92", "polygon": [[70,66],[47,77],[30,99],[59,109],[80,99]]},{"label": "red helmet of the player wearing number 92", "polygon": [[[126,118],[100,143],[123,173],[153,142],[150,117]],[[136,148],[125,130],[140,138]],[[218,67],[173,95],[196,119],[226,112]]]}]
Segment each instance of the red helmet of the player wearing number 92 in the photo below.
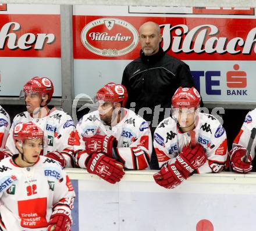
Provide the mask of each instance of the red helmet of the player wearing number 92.
[{"label": "red helmet of the player wearing number 92", "polygon": [[24,140],[26,139],[44,139],[44,132],[41,128],[37,127],[33,122],[16,124],[13,130],[13,140]]}]

